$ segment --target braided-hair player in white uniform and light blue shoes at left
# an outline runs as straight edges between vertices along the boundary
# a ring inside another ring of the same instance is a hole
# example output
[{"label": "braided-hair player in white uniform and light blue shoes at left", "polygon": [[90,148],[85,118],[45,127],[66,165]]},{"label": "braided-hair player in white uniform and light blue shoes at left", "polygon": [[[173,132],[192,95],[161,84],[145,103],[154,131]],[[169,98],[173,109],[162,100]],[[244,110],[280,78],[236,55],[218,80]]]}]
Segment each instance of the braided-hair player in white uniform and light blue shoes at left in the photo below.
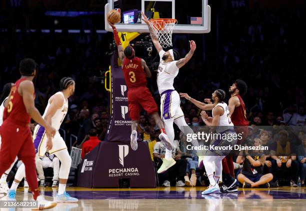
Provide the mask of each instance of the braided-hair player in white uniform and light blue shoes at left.
[{"label": "braided-hair player in white uniform and light blue shoes at left", "polygon": [[[77,202],[77,198],[69,196],[65,191],[71,167],[71,157],[64,140],[58,132],[59,127],[67,114],[68,98],[74,93],[75,83],[72,78],[65,77],[60,80],[59,87],[60,91],[52,95],[48,100],[48,104],[42,116],[50,125],[52,125],[52,127],[55,128],[56,133],[54,137],[52,140],[48,140],[45,134],[45,129],[40,125],[36,125],[34,129],[33,140],[36,149],[36,160],[38,160],[39,157],[43,157],[46,150],[48,150],[49,154],[56,155],[61,165],[59,168],[58,194],[56,194],[55,200],[57,202]],[[8,196],[11,199],[14,198],[15,190],[24,176],[23,166],[24,165],[22,164],[18,168],[12,186],[8,191]]]}]

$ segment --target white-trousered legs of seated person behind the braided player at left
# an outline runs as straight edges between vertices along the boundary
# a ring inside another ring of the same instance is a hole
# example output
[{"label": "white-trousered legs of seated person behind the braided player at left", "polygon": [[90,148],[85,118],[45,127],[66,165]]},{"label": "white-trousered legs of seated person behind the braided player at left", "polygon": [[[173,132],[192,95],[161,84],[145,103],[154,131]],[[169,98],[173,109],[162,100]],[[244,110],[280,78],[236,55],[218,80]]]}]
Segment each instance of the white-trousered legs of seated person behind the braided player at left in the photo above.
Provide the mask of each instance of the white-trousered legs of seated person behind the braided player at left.
[{"label": "white-trousered legs of seated person behind the braided player at left", "polygon": [[58,186],[59,179],[59,159],[54,155],[50,155],[48,151],[45,152],[42,158],[37,159],[36,161],[36,169],[38,173],[39,187],[44,187],[44,173],[43,168],[53,168],[53,183],[52,187]]}]

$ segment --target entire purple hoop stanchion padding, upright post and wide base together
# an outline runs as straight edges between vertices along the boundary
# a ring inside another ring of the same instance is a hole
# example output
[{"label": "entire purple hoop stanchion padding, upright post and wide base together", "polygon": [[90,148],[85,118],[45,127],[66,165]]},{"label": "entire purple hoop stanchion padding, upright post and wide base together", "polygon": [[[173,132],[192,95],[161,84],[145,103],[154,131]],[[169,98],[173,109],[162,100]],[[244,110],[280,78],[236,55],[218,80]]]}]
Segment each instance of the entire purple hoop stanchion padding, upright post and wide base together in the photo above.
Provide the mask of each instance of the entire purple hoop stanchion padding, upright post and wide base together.
[{"label": "entire purple hoop stanchion padding, upright post and wide base together", "polygon": [[111,58],[112,115],[106,141],[85,155],[78,169],[77,185],[81,187],[118,187],[119,179],[129,178],[130,187],[155,187],[154,166],[146,142],[138,142],[137,151],[130,148],[131,120],[128,117],[127,86],[118,55]]}]

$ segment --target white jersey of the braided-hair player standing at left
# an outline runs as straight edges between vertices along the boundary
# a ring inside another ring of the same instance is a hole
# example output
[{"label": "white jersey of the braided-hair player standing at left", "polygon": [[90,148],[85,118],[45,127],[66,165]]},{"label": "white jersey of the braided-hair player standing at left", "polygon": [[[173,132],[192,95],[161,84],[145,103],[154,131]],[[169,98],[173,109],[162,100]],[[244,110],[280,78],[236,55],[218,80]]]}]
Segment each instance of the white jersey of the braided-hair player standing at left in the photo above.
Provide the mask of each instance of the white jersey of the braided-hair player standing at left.
[{"label": "white jersey of the braided-hair player standing at left", "polygon": [[[57,131],[59,129],[63,119],[65,118],[65,116],[67,114],[67,111],[68,111],[68,99],[65,99],[64,95],[62,94],[62,92],[57,92],[54,95],[61,95],[62,98],[64,99],[64,103],[62,104],[62,106],[60,108],[57,109],[57,111],[55,112],[55,114],[53,115],[53,117],[51,119],[51,123],[52,123],[51,125]],[[44,110],[44,113],[42,115],[43,118],[45,117],[49,106],[50,106],[50,99],[48,100],[48,105],[46,106],[46,108]]]}]

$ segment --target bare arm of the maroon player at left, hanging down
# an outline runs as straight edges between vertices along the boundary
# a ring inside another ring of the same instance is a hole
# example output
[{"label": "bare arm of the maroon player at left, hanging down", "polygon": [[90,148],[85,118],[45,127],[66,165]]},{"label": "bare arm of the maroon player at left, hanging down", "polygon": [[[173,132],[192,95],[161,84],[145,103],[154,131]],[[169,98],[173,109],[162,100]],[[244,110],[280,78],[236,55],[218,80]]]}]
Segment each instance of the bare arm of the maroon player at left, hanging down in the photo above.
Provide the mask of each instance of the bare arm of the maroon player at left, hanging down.
[{"label": "bare arm of the maroon player at left, hanging down", "polygon": [[49,125],[46,121],[44,121],[39,111],[35,107],[34,97],[33,97],[33,93],[34,93],[33,82],[28,81],[28,80],[22,81],[20,83],[19,89],[20,91],[18,90],[18,92],[22,96],[22,100],[23,100],[26,112],[30,115],[30,117],[35,122],[37,122],[38,124],[40,124],[41,126],[45,128],[47,134],[54,136],[55,129],[52,128],[51,125]]}]

